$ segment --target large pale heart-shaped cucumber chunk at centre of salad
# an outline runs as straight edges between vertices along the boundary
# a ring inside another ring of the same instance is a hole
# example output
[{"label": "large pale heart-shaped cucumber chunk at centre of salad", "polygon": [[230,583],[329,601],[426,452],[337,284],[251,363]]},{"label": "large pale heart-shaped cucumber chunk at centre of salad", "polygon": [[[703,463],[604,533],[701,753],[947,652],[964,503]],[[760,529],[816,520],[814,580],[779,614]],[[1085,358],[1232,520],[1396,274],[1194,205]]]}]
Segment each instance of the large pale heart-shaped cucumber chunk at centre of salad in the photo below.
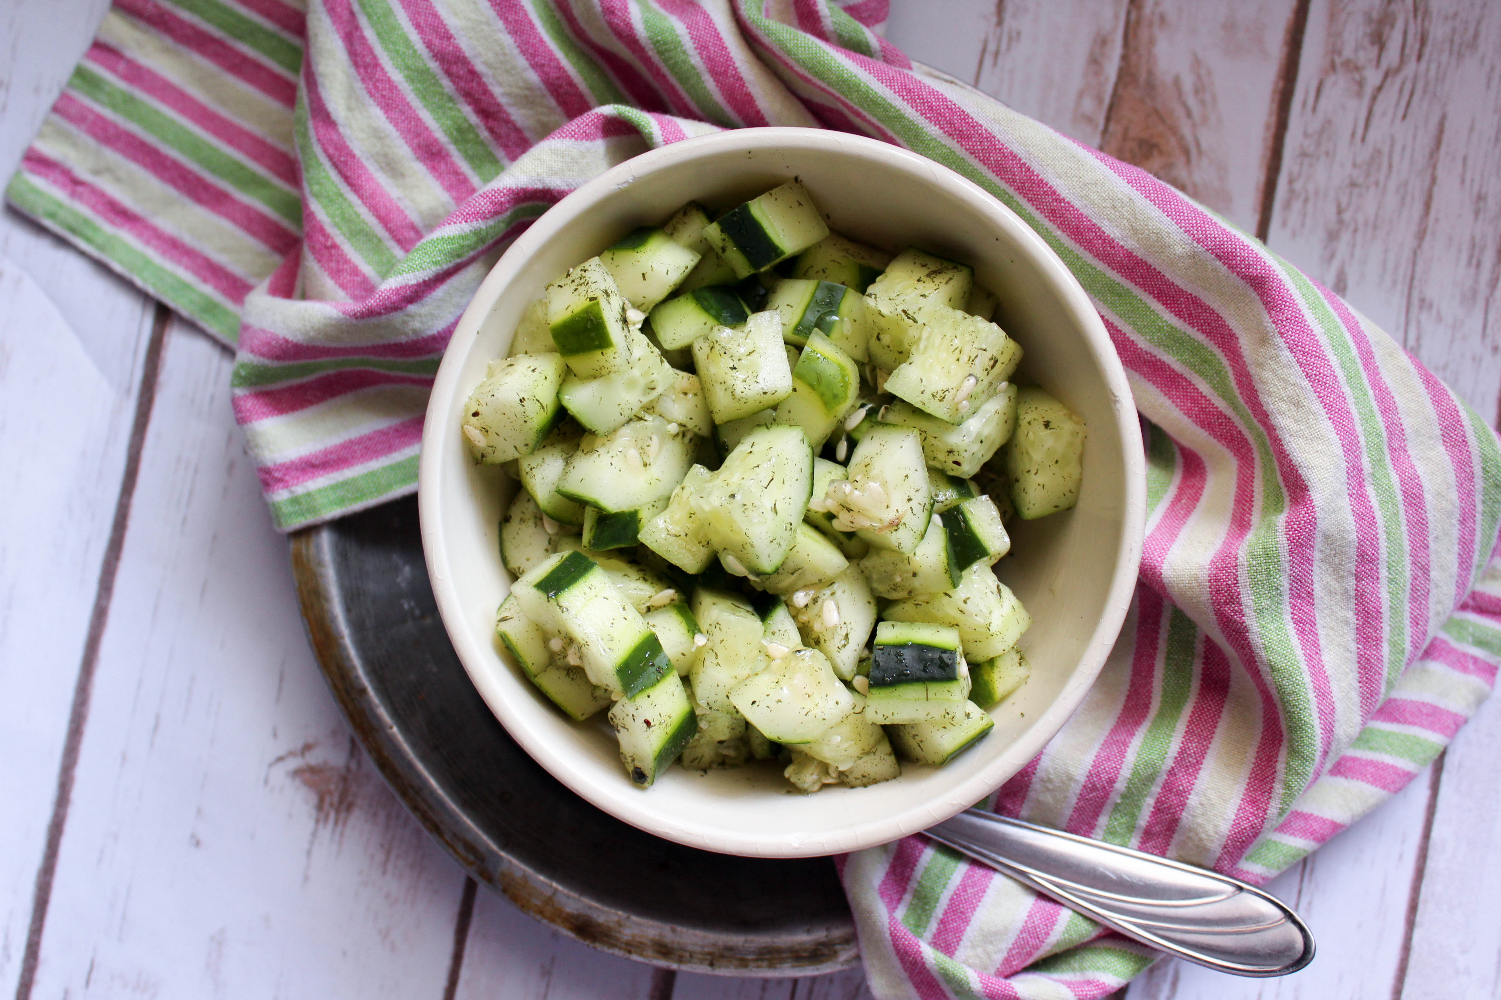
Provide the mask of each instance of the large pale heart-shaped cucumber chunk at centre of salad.
[{"label": "large pale heart-shaped cucumber chunk at centre of salad", "polygon": [[[704,535],[757,576],[776,573],[797,540],[814,453],[797,427],[758,427],[693,493]],[[926,489],[926,487],[925,487]]]}]

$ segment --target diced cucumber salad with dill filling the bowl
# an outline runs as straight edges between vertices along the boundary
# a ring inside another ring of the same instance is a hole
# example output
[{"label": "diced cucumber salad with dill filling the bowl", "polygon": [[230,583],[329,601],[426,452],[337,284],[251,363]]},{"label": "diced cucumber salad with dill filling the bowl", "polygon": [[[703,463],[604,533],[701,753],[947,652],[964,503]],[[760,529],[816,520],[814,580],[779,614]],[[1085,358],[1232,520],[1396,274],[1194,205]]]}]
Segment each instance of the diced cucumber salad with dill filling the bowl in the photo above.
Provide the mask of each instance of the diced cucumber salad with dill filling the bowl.
[{"label": "diced cucumber salad with dill filling the bowl", "polygon": [[519,480],[497,639],[629,778],[943,765],[1028,675],[992,565],[1079,495],[1084,423],[1012,381],[974,271],[830,232],[796,180],[696,202],[548,285],[470,396]]}]

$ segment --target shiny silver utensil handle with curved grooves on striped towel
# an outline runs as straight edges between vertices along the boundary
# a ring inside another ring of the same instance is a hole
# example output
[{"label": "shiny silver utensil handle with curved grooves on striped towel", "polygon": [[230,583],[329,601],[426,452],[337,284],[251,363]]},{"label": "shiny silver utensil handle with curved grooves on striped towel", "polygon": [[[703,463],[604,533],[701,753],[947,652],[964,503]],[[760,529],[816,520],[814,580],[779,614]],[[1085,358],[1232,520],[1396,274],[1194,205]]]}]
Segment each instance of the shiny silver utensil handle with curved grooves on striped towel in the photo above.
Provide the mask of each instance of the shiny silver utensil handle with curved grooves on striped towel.
[{"label": "shiny silver utensil handle with curved grooves on striped towel", "polygon": [[1285,976],[1313,934],[1274,897],[1204,868],[965,810],[928,837],[1127,937],[1237,976]]}]

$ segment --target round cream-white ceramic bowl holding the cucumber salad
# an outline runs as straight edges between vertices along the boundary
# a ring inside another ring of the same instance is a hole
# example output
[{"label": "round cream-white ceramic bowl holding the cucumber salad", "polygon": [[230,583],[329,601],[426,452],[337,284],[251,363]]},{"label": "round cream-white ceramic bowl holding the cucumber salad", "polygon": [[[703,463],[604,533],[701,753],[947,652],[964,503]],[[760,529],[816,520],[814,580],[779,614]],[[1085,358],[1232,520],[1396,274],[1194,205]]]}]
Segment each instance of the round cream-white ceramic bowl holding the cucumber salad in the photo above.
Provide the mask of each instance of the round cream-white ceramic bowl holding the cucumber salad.
[{"label": "round cream-white ceramic bowl holding the cucumber salad", "polygon": [[[525,304],[569,267],[683,202],[728,208],[790,177],[829,223],[899,250],[916,244],[974,265],[1001,300],[997,321],[1025,349],[1022,373],[1088,424],[1073,511],[1012,523],[998,576],[1034,618],[1021,645],[1031,679],[992,711],[995,729],[944,768],[904,765],[868,789],[791,793],[766,766],[669,769],[654,787],[626,780],[603,717],[557,712],[494,640],[509,589],[498,525],[516,489],[476,466],[462,442],[465,397],[506,354]],[[422,544],[453,646],[491,711],[563,784],[644,831],[707,850],[797,858],[871,847],[983,799],[1058,732],[1105,663],[1141,556],[1145,475],[1126,373],[1084,289],[1009,208],[958,174],[872,139],[817,129],[741,129],[653,150],[560,201],[480,285],[438,369],[422,438]]]}]

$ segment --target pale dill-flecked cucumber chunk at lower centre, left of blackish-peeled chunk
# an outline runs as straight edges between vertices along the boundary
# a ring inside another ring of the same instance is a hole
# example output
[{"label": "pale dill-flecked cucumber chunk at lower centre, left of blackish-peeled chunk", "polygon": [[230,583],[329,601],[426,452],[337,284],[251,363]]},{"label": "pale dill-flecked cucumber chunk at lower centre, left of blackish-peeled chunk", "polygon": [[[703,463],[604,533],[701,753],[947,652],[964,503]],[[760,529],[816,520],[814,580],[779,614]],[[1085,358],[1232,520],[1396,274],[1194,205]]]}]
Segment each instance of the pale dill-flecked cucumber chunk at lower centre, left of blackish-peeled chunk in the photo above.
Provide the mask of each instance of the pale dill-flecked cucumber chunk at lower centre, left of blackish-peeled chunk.
[{"label": "pale dill-flecked cucumber chunk at lower centre, left of blackish-peeled chunk", "polygon": [[806,744],[854,708],[854,697],[817,649],[793,649],[734,687],[729,700],[779,744]]}]

